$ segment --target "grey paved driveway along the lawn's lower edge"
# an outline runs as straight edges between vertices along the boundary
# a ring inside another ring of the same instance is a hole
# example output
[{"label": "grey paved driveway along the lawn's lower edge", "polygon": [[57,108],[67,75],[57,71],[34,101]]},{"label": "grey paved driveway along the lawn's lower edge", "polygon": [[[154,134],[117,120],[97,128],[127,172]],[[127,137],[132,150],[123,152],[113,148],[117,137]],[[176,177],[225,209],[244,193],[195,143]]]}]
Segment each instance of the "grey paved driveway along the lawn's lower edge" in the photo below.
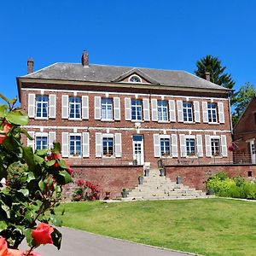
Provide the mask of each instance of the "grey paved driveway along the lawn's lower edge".
[{"label": "grey paved driveway along the lawn's lower edge", "polygon": [[[93,235],[84,231],[58,228],[63,239],[60,251],[53,245],[38,247],[35,251],[43,256],[184,256],[176,253],[148,247],[137,243]],[[191,255],[191,254],[190,254]]]}]

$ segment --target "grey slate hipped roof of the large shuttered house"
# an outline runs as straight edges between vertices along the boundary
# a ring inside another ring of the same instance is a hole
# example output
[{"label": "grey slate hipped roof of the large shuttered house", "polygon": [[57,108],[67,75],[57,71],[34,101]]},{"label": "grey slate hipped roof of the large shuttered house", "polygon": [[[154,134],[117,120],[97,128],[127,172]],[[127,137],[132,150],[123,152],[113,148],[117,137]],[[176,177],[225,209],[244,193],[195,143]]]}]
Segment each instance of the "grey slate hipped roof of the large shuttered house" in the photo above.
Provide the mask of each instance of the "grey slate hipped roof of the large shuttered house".
[{"label": "grey slate hipped roof of the large shuttered house", "polygon": [[218,84],[213,84],[184,71],[108,65],[83,67],[80,63],[55,63],[21,78],[116,83],[119,78],[125,77],[125,73],[132,73],[132,69],[141,76],[144,74],[145,78],[149,78],[151,82],[154,81],[152,84],[227,91],[226,88]]}]

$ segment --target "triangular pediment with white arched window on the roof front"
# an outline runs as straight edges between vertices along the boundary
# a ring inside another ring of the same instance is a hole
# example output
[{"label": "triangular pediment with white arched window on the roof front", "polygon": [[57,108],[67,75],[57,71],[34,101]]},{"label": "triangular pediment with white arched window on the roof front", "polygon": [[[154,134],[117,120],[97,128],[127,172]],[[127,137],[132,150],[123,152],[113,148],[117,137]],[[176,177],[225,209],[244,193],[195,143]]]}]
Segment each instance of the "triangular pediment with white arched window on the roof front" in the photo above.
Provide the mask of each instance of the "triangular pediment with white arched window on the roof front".
[{"label": "triangular pediment with white arched window on the roof front", "polygon": [[160,84],[158,81],[150,78],[146,73],[143,73],[143,71],[138,68],[132,68],[128,72],[120,75],[118,78],[113,79],[112,82]]}]

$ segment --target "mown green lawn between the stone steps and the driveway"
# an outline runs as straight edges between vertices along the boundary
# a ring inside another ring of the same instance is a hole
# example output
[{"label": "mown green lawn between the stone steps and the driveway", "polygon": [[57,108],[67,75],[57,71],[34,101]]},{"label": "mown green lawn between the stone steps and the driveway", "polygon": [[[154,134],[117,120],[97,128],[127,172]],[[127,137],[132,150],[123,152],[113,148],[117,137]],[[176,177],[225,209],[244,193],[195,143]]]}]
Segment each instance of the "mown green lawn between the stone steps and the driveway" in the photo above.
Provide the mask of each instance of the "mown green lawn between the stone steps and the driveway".
[{"label": "mown green lawn between the stone steps and the driveway", "polygon": [[60,212],[63,207],[63,225],[74,229],[190,253],[256,255],[256,202],[72,202]]}]

